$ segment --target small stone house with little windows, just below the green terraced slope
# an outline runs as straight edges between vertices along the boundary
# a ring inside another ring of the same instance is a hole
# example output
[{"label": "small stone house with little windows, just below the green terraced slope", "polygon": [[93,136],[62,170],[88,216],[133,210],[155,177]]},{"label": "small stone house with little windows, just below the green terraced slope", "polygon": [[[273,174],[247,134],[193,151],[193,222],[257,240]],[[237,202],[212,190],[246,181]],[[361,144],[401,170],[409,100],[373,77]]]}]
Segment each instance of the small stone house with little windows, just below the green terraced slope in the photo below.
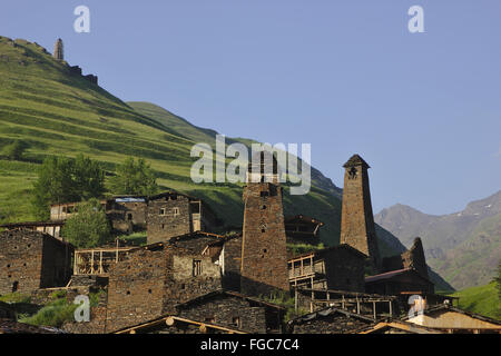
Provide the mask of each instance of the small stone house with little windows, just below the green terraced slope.
[{"label": "small stone house with little windows, just below the green terraced slope", "polygon": [[148,244],[189,233],[207,231],[216,225],[216,215],[200,199],[176,191],[163,192],[148,199]]}]

